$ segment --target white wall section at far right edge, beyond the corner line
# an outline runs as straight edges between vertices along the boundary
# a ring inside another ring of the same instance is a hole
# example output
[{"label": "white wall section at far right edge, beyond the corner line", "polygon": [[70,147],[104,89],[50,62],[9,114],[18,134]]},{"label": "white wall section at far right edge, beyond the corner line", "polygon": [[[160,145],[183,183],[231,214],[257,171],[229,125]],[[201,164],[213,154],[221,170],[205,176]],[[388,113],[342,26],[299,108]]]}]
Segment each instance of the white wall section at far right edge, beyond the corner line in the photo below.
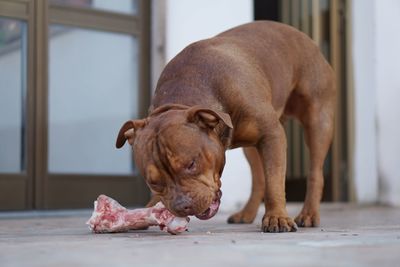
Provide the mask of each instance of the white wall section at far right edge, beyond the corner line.
[{"label": "white wall section at far right edge, beyond the corner line", "polygon": [[400,206],[400,1],[375,1],[379,200]]}]

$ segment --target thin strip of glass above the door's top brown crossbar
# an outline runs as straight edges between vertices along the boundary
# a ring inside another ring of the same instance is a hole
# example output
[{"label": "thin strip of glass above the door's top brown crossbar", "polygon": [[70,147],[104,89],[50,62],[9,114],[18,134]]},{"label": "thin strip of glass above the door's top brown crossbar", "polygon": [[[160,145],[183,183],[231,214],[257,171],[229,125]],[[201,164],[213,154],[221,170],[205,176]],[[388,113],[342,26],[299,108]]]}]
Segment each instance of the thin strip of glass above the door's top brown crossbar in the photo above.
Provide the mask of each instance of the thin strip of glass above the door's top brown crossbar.
[{"label": "thin strip of glass above the door's top brown crossbar", "polygon": [[100,9],[118,13],[137,14],[137,0],[50,0],[50,3],[64,6]]}]

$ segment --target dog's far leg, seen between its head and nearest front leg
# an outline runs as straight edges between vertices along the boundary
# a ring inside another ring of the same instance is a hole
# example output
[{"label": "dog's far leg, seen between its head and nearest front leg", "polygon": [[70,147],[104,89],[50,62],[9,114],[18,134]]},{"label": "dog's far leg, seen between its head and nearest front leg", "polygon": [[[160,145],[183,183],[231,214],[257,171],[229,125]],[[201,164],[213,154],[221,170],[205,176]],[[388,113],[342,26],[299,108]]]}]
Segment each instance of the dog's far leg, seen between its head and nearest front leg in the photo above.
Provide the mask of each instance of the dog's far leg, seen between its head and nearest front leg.
[{"label": "dog's far leg, seen between its head and nearest front leg", "polygon": [[260,155],[254,147],[243,148],[243,151],[251,168],[251,194],[244,208],[231,215],[228,223],[252,223],[264,197],[265,179]]}]

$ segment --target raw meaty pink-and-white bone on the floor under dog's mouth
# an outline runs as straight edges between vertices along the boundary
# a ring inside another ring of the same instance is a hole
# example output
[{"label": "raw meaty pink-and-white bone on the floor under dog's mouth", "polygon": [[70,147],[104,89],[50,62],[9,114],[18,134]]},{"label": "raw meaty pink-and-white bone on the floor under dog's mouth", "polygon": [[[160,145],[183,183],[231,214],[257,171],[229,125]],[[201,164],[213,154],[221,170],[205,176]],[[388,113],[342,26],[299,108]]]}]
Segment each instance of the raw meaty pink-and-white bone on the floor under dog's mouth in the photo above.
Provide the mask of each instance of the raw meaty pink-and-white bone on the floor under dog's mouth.
[{"label": "raw meaty pink-and-white bone on the floor under dog's mouth", "polygon": [[187,230],[189,217],[176,217],[158,202],[151,208],[128,210],[116,200],[100,195],[94,202],[92,217],[86,222],[95,233],[126,232],[158,225],[170,234]]}]

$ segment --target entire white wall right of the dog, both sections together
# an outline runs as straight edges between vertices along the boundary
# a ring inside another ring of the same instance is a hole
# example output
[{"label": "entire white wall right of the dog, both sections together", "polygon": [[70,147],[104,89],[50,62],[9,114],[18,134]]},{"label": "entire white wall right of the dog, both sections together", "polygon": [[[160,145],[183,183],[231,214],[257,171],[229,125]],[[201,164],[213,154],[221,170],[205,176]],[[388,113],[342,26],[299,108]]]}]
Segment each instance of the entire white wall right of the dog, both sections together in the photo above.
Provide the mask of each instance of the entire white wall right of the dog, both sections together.
[{"label": "entire white wall right of the dog, both sections together", "polygon": [[353,0],[355,189],[400,205],[400,2]]}]

